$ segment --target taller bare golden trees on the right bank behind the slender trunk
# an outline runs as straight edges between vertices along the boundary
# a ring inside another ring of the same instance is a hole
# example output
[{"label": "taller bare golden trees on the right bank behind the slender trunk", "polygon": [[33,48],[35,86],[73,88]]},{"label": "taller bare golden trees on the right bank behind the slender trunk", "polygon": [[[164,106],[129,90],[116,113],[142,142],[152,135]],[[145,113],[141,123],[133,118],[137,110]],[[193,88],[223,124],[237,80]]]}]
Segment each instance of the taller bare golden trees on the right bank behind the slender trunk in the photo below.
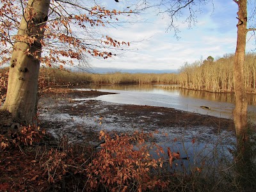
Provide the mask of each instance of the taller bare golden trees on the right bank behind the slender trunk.
[{"label": "taller bare golden trees on the right bank behind the slender trunk", "polygon": [[[209,56],[207,60],[185,63],[179,71],[181,88],[204,90],[208,92],[233,92],[234,54],[225,54],[216,61]],[[256,54],[245,57],[244,85],[248,92],[256,92]]]}]

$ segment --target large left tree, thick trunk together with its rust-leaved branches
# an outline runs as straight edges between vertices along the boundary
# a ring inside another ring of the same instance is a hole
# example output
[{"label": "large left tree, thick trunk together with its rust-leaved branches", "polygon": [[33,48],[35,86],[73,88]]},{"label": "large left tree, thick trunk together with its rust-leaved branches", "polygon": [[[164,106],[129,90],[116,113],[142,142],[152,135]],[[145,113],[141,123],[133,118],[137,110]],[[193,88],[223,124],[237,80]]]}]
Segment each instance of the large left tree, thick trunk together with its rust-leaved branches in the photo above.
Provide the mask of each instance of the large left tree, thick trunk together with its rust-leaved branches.
[{"label": "large left tree, thick trunk together with its rust-leaved branches", "polygon": [[10,68],[6,99],[0,110],[31,124],[38,102],[40,63],[47,67],[55,63],[62,69],[74,61],[86,63],[87,56],[102,60],[115,56],[113,51],[129,47],[129,42],[100,34],[95,28],[113,27],[121,22],[121,15],[129,17],[132,12],[132,8],[108,10],[83,1],[1,1],[0,65],[6,63]]}]

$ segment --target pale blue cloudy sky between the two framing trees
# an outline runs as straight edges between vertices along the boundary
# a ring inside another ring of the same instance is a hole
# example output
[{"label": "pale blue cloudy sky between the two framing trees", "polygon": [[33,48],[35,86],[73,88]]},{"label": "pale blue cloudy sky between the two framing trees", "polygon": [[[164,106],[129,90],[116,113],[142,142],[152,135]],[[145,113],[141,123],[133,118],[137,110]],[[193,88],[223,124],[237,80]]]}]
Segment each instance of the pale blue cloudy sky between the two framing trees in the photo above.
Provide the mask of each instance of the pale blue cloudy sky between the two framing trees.
[{"label": "pale blue cloudy sky between the two framing trees", "polygon": [[[122,9],[129,1],[103,1],[106,7]],[[156,10],[136,16],[136,19],[147,20],[135,24],[124,25],[124,28],[106,29],[118,40],[131,42],[131,51],[122,52],[122,55],[109,60],[92,59],[92,67],[111,68],[111,70],[177,70],[184,62],[204,60],[207,56],[218,58],[223,54],[234,53],[236,50],[237,35],[237,4],[232,0],[214,0],[202,6],[203,13],[198,14],[198,22],[192,29],[182,23],[179,25],[179,40],[173,31],[166,31],[170,19],[156,15]],[[163,15],[162,15],[163,16]],[[249,36],[249,35],[248,35]],[[247,51],[254,49],[253,40],[247,44]]]}]

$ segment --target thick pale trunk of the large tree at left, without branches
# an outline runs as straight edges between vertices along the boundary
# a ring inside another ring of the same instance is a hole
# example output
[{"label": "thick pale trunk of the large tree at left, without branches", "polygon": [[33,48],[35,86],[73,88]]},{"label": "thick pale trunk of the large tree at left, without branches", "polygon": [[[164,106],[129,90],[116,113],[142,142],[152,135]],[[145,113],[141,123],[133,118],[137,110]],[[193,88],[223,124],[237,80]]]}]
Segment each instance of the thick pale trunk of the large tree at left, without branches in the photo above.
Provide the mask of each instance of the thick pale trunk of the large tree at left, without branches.
[{"label": "thick pale trunk of the large tree at left, without branches", "polygon": [[13,45],[6,100],[1,110],[31,124],[35,116],[41,41],[50,0],[29,0]]}]

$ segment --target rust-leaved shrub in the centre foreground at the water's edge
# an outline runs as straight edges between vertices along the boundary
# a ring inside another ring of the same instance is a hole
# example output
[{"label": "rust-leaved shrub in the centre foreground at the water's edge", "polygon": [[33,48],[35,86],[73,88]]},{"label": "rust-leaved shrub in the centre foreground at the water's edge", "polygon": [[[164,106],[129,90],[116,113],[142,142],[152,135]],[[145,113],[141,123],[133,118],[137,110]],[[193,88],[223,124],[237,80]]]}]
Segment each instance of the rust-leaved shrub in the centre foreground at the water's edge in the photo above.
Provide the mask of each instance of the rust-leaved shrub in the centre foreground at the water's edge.
[{"label": "rust-leaved shrub in the centre foreground at the water's edge", "polygon": [[[164,188],[167,182],[152,173],[162,166],[162,159],[154,159],[149,154],[150,145],[143,132],[134,132],[132,136],[115,134],[114,138],[100,131],[100,140],[104,143],[88,165],[88,184],[92,190],[104,187],[109,191],[145,191]],[[161,149],[160,149],[161,150]]]}]

